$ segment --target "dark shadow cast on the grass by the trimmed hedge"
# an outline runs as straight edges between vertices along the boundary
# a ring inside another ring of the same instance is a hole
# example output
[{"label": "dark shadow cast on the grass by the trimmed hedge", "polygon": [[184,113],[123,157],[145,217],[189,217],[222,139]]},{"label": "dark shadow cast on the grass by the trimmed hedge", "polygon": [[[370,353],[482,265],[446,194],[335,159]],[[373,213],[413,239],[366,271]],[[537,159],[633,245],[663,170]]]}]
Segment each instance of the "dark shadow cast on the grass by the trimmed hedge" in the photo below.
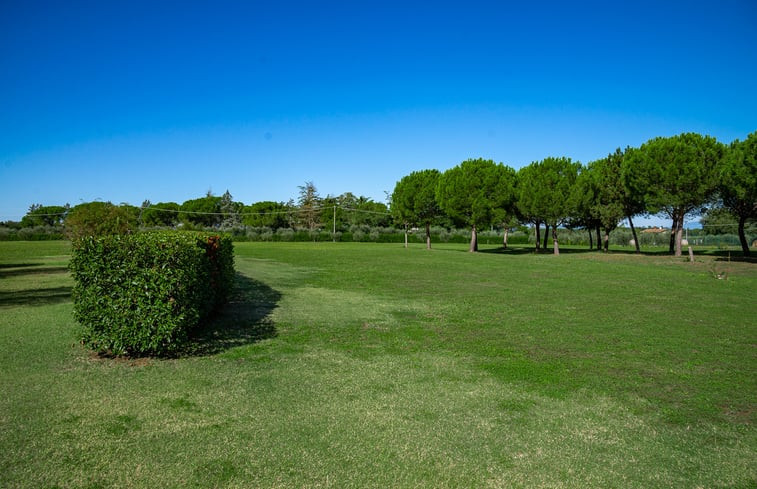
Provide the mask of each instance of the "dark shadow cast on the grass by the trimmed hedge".
[{"label": "dark shadow cast on the grass by the trimmed hedge", "polygon": [[234,286],[229,303],[190,334],[179,356],[214,355],[276,336],[271,313],[281,293],[241,273]]}]

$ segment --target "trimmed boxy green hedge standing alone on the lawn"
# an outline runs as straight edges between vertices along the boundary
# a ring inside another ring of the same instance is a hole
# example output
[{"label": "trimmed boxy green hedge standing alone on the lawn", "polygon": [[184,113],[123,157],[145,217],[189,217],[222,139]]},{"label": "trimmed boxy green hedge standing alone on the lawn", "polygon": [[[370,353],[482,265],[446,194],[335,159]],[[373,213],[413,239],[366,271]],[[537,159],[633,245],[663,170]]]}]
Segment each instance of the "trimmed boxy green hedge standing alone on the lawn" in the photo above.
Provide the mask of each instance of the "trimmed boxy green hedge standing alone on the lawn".
[{"label": "trimmed boxy green hedge standing alone on the lawn", "polygon": [[207,233],[86,237],[70,266],[81,341],[112,355],[175,352],[234,282],[231,239]]}]

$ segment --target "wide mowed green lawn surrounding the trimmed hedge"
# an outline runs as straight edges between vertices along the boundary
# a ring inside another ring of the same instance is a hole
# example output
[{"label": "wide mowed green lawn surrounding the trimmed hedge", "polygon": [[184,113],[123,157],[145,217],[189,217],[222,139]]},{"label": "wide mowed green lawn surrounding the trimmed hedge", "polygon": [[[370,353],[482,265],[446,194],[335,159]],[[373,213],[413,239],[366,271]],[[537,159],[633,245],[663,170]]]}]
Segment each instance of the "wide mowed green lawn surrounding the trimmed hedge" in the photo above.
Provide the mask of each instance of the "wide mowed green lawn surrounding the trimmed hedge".
[{"label": "wide mowed green lawn surrounding the trimmed hedge", "polygon": [[0,243],[0,487],[757,485],[755,264],[238,243],[187,354],[124,360],[67,246]]}]

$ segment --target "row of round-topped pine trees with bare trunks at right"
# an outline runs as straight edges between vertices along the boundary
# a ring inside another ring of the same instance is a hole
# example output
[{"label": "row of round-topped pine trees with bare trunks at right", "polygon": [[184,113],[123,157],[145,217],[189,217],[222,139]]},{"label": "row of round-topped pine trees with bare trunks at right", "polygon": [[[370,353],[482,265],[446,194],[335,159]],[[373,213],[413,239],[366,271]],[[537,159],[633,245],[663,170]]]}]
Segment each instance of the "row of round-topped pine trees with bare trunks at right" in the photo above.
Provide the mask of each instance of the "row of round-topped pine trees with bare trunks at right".
[{"label": "row of round-topped pine trees with bare trunks at right", "polygon": [[738,220],[742,249],[748,220],[757,218],[757,132],[726,146],[715,138],[684,133],[654,138],[639,148],[617,149],[586,166],[570,158],[545,158],[517,172],[491,160],[467,160],[444,173],[413,172],[403,177],[391,197],[392,213],[405,223],[429,228],[439,216],[471,229],[470,251],[478,249],[476,232],[489,226],[507,229],[530,223],[536,248],[552,230],[559,254],[557,228],[583,227],[609,234],[628,220],[639,251],[633,217],[663,214],[672,221],[671,252],[679,256],[684,222],[706,207],[727,210]]}]

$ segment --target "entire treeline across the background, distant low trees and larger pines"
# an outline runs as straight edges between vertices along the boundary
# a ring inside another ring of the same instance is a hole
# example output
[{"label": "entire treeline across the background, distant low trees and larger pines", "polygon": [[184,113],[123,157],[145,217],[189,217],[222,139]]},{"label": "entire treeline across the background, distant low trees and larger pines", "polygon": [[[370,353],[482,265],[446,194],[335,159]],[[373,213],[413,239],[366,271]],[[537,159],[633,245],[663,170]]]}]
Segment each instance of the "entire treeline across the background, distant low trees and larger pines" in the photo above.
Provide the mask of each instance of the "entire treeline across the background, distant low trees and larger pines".
[{"label": "entire treeline across the background, distant low trees and larger pines", "polygon": [[16,224],[60,230],[65,223],[69,236],[75,237],[96,229],[121,232],[138,226],[291,228],[312,233],[321,229],[345,232],[356,226],[386,228],[398,223],[425,227],[429,248],[430,226],[464,226],[471,230],[471,251],[478,249],[481,229],[503,229],[507,246],[508,230],[528,224],[535,229],[537,250],[547,247],[551,230],[554,252],[559,253],[558,228],[589,230],[590,240],[596,235],[597,247],[602,242],[607,249],[610,233],[626,219],[638,251],[633,217],[663,214],[673,223],[671,252],[680,254],[685,220],[707,207],[707,222],[717,224],[711,231],[735,223],[744,253],[749,254],[745,227],[757,217],[756,155],[757,133],[728,146],[711,137],[685,133],[655,138],[639,148],[617,149],[585,166],[570,158],[550,157],[516,172],[477,159],[443,173],[413,172],[397,182],[389,199],[391,214],[385,204],[350,192],[321,197],[315,185],[306,182],[299,187],[298,198],[288,202],[245,205],[235,202],[226,191],[222,196],[208,192],[182,204],[33,205]]}]

